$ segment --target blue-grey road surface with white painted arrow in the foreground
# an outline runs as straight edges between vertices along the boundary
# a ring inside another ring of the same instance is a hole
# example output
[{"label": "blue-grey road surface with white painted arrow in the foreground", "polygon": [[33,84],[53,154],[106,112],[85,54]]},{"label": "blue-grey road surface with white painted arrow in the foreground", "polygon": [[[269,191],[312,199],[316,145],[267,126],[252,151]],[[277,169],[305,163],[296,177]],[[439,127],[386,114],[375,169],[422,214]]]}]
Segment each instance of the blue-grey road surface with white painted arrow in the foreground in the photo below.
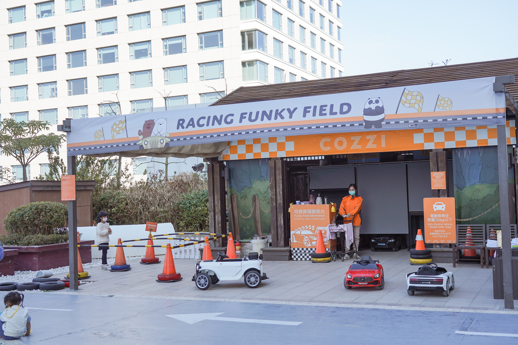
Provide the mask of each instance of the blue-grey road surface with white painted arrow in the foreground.
[{"label": "blue-grey road surface with white painted arrow in the foreground", "polygon": [[75,345],[518,343],[516,312],[273,303],[26,293],[33,333],[20,340]]}]

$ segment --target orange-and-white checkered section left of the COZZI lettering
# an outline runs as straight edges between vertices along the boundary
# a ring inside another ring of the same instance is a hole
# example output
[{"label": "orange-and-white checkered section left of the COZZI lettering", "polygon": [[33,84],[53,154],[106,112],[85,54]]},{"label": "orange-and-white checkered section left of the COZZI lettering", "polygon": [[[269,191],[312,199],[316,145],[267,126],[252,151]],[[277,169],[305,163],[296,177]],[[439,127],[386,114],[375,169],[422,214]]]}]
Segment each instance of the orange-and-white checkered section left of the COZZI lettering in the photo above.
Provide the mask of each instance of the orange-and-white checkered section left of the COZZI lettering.
[{"label": "orange-and-white checkered section left of the COZZI lettering", "polygon": [[286,151],[294,150],[294,142],[286,137],[236,140],[229,142],[222,153],[222,160],[286,157]]}]

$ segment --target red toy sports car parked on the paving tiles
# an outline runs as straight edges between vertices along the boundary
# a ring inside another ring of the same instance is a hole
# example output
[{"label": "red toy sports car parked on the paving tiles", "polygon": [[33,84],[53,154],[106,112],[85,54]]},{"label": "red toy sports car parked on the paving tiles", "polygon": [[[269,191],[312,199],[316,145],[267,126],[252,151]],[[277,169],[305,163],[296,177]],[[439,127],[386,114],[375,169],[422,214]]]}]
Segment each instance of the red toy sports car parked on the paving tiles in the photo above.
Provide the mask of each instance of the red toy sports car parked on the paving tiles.
[{"label": "red toy sports car parked on the paving tiles", "polygon": [[376,287],[376,289],[382,290],[385,287],[385,280],[383,279],[383,266],[379,262],[379,260],[372,260],[369,256],[354,260],[343,279],[343,286],[346,289]]}]

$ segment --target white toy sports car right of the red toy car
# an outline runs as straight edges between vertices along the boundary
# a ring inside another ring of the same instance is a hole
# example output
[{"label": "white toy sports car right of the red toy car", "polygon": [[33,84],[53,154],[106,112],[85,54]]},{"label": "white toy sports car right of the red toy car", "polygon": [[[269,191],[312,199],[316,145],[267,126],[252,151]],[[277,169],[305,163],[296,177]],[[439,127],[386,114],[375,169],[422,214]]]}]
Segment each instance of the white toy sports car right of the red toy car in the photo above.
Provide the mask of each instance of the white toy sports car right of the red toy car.
[{"label": "white toy sports car right of the red toy car", "polygon": [[410,296],[415,291],[442,292],[444,297],[450,295],[450,290],[455,289],[453,273],[443,267],[437,267],[434,262],[429,262],[419,267],[417,272],[407,274],[407,292]]}]

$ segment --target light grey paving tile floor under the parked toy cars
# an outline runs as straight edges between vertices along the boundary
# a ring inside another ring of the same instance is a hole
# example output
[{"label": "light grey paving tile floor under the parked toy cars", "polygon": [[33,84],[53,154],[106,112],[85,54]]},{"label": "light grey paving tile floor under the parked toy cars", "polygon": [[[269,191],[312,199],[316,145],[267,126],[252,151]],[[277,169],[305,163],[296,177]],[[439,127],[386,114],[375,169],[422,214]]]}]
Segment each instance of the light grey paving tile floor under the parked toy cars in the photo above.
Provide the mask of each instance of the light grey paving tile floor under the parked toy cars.
[{"label": "light grey paving tile floor under the parked toy cars", "polygon": [[[297,303],[396,305],[421,307],[476,308],[504,310],[503,299],[493,299],[492,269],[480,268],[476,263],[440,264],[455,277],[455,290],[449,297],[440,293],[416,292],[409,296],[406,289],[406,274],[415,272],[418,266],[409,262],[406,250],[364,251],[380,260],[385,276],[385,288],[343,287],[343,278],[353,259],[330,263],[309,261],[263,261],[263,271],[269,279],[256,289],[247,288],[242,279],[220,281],[208,290],[196,288],[191,278],[195,272],[195,259],[175,259],[175,268],[183,280],[173,283],[156,282],[162,273],[160,264],[142,265],[137,260],[128,260],[131,271],[109,272],[100,267],[89,268],[91,278],[81,284],[76,293],[134,296],[174,296],[179,298],[216,298],[253,301],[283,301]],[[67,291],[63,291],[67,293]],[[516,302],[515,302],[516,304]]]}]

